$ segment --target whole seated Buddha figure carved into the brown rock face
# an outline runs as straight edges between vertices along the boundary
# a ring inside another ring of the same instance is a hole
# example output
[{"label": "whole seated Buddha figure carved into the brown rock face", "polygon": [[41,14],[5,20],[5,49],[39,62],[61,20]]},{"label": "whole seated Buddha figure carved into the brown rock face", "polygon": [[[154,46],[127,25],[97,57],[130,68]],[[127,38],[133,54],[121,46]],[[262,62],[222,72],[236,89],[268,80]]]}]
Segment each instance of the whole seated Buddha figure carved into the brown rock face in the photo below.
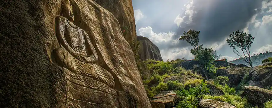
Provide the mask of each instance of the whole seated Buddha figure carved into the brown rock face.
[{"label": "whole seated Buddha figure carved into the brown rock face", "polygon": [[73,24],[74,16],[69,0],[63,0],[61,15],[56,17],[56,36],[60,48],[52,53],[55,62],[73,73],[105,83],[114,88],[111,73],[96,65],[98,56],[88,34]]}]

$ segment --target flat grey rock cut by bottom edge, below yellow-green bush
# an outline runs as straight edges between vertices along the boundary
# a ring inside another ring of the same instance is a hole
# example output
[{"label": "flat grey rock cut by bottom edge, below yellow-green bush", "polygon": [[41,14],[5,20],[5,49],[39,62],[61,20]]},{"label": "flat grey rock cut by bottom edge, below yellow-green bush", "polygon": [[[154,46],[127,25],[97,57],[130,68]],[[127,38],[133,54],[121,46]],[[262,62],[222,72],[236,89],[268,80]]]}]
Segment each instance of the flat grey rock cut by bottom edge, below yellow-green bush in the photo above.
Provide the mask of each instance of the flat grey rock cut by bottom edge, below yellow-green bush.
[{"label": "flat grey rock cut by bottom edge, below yellow-green bush", "polygon": [[232,104],[226,102],[215,101],[212,99],[202,99],[197,108],[236,108]]}]

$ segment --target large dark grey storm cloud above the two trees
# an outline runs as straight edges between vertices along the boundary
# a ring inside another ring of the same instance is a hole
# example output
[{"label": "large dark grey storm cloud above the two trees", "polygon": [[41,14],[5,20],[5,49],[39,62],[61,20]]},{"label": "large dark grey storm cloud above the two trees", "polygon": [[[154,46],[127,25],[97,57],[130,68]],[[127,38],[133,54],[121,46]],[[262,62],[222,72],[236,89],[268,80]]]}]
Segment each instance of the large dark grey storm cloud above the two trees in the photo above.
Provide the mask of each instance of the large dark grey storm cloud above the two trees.
[{"label": "large dark grey storm cloud above the two trees", "polygon": [[[247,22],[261,10],[262,0],[194,0],[192,23],[181,23],[176,29],[176,36],[180,38],[184,31],[195,29],[201,31],[200,42],[211,44],[223,41],[228,35],[237,29],[244,29]],[[255,10],[257,9],[257,10]],[[170,47],[184,46],[184,42]]]}]

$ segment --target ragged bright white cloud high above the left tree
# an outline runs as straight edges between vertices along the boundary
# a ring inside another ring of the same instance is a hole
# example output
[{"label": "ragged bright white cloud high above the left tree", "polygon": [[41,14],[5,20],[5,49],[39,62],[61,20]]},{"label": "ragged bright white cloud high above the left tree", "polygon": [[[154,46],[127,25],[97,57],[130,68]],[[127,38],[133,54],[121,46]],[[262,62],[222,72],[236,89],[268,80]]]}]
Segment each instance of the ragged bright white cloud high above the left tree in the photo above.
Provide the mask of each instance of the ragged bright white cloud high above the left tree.
[{"label": "ragged bright white cloud high above the left tree", "polygon": [[193,0],[191,0],[190,3],[188,3],[187,5],[184,4],[185,11],[184,11],[184,15],[181,16],[180,14],[176,16],[176,19],[174,20],[174,23],[176,23],[177,26],[180,26],[180,24],[182,22],[185,22],[187,24],[191,23],[193,21],[193,14],[196,13],[196,11],[194,11],[194,6],[193,6],[194,2]]}]

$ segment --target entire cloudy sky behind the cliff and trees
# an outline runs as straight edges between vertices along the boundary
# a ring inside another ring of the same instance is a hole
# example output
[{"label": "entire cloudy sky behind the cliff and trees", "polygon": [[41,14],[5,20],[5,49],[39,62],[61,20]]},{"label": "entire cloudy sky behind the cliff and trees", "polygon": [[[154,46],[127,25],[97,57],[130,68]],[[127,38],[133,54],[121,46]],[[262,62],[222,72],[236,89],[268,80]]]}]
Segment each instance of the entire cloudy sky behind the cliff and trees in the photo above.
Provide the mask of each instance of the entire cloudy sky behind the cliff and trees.
[{"label": "entire cloudy sky behind the cliff and trees", "polygon": [[180,35],[189,29],[201,31],[199,44],[213,48],[228,61],[239,58],[226,43],[237,29],[255,40],[251,52],[272,51],[271,0],[132,0],[138,36],[159,47],[164,61],[193,59]]}]

